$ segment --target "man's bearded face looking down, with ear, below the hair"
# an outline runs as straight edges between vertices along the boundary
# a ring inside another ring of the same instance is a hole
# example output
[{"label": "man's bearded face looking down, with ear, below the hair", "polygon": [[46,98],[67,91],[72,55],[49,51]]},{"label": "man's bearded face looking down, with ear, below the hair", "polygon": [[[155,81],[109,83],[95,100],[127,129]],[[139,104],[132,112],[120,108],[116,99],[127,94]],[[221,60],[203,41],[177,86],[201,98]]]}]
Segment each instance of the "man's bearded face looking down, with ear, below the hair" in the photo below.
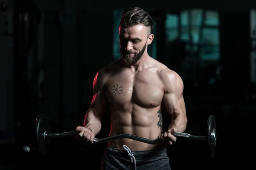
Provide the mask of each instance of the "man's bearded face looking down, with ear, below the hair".
[{"label": "man's bearded face looking down, with ear, below the hair", "polygon": [[147,45],[153,40],[153,34],[148,37],[147,27],[142,25],[130,28],[119,27],[120,53],[126,66],[136,64]]}]

